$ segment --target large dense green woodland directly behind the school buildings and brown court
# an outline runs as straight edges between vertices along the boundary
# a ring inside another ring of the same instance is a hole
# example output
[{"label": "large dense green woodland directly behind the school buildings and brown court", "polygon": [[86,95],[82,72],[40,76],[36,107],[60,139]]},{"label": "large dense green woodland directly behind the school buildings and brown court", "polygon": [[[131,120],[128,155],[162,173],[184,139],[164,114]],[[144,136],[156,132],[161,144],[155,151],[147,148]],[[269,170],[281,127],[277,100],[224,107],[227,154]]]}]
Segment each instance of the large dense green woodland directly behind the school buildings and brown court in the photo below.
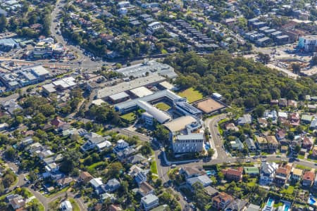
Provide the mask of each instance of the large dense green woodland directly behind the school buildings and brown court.
[{"label": "large dense green woodland directly behind the school buildings and brown court", "polygon": [[313,96],[317,91],[316,83],[308,77],[290,79],[261,63],[223,51],[204,57],[180,53],[166,58],[165,63],[180,72],[175,80],[180,89],[196,87],[205,95],[216,91],[227,103],[240,107],[253,108],[276,98],[304,100],[306,94]]}]

